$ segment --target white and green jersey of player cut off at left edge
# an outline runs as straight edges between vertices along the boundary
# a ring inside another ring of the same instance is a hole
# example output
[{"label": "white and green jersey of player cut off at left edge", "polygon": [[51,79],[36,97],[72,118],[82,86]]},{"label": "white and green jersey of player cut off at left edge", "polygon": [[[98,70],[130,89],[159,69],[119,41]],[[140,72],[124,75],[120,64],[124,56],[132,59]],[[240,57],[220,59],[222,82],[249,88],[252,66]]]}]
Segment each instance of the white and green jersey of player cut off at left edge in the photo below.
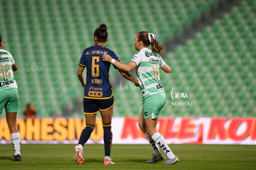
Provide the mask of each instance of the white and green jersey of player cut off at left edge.
[{"label": "white and green jersey of player cut off at left edge", "polygon": [[0,91],[9,88],[18,88],[14,80],[12,65],[15,63],[12,54],[9,51],[0,49]]}]

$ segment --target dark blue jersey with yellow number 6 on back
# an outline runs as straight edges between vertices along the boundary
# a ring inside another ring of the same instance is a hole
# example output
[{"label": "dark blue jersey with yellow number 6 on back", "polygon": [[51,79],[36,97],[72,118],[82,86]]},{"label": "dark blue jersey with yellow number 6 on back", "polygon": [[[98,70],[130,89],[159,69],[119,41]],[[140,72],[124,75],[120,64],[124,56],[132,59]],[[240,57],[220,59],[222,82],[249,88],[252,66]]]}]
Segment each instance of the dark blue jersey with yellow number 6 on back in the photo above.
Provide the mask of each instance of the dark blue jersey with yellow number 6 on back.
[{"label": "dark blue jersey with yellow number 6 on back", "polygon": [[80,57],[79,66],[87,69],[85,98],[107,99],[113,96],[112,87],[109,83],[111,63],[102,60],[103,54],[109,54],[109,56],[119,60],[114,51],[99,45],[86,48]]}]

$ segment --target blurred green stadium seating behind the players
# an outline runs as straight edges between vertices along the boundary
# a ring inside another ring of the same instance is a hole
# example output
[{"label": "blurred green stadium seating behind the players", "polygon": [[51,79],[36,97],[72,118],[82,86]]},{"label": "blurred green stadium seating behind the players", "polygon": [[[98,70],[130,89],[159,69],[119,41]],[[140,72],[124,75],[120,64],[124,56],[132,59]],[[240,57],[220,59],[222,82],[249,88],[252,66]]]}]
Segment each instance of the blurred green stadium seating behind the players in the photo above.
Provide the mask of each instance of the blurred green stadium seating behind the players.
[{"label": "blurred green stadium seating behind the players", "polygon": [[[19,67],[19,117],[28,102],[39,117],[83,117],[76,72],[101,23],[122,62],[137,52],[134,36],[143,30],[166,48],[172,72],[161,72],[162,116],[255,117],[254,0],[1,0],[0,16],[4,49]],[[111,82],[114,116],[139,116],[139,88],[113,67]]]}]

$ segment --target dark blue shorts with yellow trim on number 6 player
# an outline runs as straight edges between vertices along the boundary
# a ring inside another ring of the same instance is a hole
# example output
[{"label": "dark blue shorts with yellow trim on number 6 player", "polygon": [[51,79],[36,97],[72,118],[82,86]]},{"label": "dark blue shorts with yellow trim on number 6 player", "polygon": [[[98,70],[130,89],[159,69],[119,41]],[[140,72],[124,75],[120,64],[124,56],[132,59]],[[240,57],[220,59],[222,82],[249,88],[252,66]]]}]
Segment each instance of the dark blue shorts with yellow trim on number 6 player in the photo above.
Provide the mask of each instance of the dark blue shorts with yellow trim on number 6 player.
[{"label": "dark blue shorts with yellow trim on number 6 player", "polygon": [[84,114],[96,114],[98,111],[105,111],[114,106],[114,96],[109,99],[90,99],[83,98]]}]

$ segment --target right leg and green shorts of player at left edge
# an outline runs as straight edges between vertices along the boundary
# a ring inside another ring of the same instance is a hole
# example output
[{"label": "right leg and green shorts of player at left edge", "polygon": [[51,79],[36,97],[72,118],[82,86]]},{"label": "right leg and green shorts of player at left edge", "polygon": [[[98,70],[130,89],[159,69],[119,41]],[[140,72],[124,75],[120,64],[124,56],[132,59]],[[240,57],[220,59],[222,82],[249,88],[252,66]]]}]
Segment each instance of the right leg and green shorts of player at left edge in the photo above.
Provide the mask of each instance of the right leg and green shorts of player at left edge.
[{"label": "right leg and green shorts of player at left edge", "polygon": [[6,103],[6,121],[9,126],[12,147],[14,148],[14,161],[21,161],[20,133],[17,127],[17,113],[19,113],[19,93],[17,88],[6,90],[9,99]]}]

